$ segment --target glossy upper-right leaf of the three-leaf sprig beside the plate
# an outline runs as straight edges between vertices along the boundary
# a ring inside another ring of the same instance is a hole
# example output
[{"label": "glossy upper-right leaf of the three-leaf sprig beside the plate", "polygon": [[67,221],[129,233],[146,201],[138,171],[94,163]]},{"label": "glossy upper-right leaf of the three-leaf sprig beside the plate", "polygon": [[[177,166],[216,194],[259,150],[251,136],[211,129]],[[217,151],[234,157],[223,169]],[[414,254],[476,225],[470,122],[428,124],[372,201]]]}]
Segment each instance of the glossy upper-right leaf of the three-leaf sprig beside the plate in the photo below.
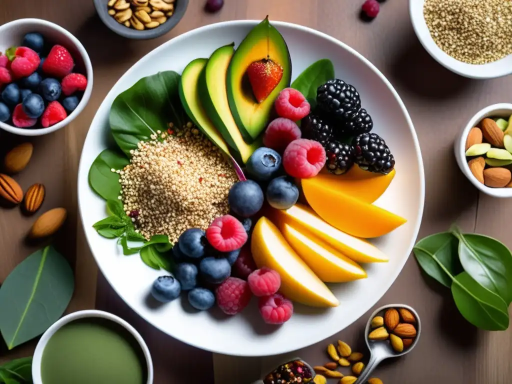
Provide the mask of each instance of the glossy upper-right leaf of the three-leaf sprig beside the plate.
[{"label": "glossy upper-right leaf of the three-leaf sprig beside the plate", "polygon": [[459,239],[459,258],[464,270],[482,287],[512,302],[512,254],[498,240],[482,234],[452,230]]}]

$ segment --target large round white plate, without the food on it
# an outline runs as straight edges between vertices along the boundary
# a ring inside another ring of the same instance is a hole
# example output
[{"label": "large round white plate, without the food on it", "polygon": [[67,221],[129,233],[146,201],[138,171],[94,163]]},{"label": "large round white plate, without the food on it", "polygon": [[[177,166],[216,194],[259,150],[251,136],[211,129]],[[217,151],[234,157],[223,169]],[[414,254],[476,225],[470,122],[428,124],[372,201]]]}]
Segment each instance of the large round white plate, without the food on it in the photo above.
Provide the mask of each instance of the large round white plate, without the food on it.
[{"label": "large round white plate, without the food on it", "polygon": [[89,246],[99,268],[123,300],[149,323],[184,343],[240,356],[268,356],[306,347],[344,329],[368,311],[406,263],[418,234],[424,200],[423,164],[416,133],[389,81],[342,42],[309,28],[272,22],[288,44],[293,78],[314,61],[327,57],[334,63],[336,77],[357,88],[375,122],[374,132],[385,138],[397,162],[397,175],[377,203],[408,222],[376,242],[389,255],[389,263],[365,266],[368,279],[330,285],[341,302],[339,307],[318,310],[296,305],[295,314],[282,327],[265,325],[255,300],[242,314],[231,317],[220,311],[192,313],[184,309],[182,300],[159,308],[146,304],[151,284],[161,272],[146,267],[138,255],[123,256],[115,241],[100,237],[92,227],[105,217],[105,202],[89,187],[88,172],[95,157],[108,145],[112,101],[141,77],[165,70],[181,73],[195,58],[208,57],[233,40],[240,44],[257,23],[241,20],[205,26],[167,41],[139,60],[101,104],[83,147],[78,174],[80,214]]}]

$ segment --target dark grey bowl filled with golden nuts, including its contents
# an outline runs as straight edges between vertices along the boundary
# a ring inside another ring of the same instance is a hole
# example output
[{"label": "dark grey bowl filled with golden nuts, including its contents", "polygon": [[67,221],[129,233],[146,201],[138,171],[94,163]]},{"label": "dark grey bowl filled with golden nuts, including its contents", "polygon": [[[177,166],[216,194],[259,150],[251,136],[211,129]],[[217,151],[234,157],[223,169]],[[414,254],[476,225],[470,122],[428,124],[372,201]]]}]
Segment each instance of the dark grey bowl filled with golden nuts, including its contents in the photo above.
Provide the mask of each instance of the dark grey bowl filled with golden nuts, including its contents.
[{"label": "dark grey bowl filled with golden nuts, including its contents", "polygon": [[188,0],[94,0],[102,22],[118,35],[152,39],[173,29]]}]

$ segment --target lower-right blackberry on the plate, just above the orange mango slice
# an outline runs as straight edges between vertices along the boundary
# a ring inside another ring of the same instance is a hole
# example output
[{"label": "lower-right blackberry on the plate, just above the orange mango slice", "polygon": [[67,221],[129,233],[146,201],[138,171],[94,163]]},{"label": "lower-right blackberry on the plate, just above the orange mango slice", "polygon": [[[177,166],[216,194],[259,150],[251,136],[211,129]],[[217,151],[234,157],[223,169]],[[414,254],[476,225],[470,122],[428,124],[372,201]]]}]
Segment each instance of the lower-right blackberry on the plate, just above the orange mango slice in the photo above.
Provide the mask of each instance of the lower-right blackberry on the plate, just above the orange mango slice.
[{"label": "lower-right blackberry on the plate, just above the orange mango slice", "polygon": [[354,138],[355,163],[370,172],[389,174],[395,167],[395,158],[386,142],[377,134],[364,133]]}]

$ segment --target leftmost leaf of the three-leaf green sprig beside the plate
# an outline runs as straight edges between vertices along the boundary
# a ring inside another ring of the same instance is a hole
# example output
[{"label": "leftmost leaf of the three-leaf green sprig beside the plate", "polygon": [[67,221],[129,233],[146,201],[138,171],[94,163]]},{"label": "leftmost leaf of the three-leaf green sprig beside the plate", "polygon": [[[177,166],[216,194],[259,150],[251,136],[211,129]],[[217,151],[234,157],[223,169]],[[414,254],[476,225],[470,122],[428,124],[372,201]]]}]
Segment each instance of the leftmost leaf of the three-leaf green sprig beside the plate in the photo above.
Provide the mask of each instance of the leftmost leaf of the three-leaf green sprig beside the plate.
[{"label": "leftmost leaf of the three-leaf green sprig beside the plate", "polygon": [[451,232],[441,232],[420,240],[413,251],[425,273],[450,288],[452,276],[462,272],[457,246],[457,238]]}]

